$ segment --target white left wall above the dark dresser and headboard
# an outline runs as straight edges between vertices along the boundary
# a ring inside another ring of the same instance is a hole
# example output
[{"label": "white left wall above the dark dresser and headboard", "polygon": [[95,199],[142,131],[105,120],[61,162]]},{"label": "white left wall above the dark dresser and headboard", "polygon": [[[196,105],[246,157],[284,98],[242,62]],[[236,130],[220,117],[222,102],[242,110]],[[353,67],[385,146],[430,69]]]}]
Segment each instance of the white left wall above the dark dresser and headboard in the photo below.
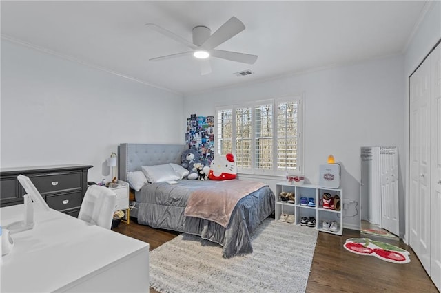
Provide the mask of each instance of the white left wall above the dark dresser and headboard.
[{"label": "white left wall above the dark dresser and headboard", "polygon": [[123,142],[184,142],[181,95],[1,40],[1,167],[91,164]]}]

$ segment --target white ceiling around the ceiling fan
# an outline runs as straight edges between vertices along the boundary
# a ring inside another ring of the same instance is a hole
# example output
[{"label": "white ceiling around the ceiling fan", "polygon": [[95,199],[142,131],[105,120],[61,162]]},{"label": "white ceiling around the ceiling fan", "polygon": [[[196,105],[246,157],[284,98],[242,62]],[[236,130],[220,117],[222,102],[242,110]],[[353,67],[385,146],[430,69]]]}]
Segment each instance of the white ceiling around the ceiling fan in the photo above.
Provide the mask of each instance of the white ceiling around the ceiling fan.
[{"label": "white ceiling around the ceiling fan", "polygon": [[[82,63],[183,94],[402,52],[427,1],[1,1],[1,34]],[[218,49],[258,55],[254,65],[212,58],[201,76],[188,51],[145,27],[192,41],[230,17],[245,30]],[[254,74],[236,77],[251,69]]]}]

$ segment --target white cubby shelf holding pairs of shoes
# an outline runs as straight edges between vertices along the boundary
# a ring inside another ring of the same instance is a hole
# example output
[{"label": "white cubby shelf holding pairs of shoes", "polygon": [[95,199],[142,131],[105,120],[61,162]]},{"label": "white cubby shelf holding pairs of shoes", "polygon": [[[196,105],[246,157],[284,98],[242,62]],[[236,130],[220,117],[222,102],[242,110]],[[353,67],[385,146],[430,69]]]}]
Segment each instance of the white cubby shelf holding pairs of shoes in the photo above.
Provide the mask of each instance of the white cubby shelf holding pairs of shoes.
[{"label": "white cubby shelf holding pairs of shoes", "polygon": [[[292,204],[283,201],[282,198],[280,197],[280,193],[283,192],[294,193],[295,203]],[[333,199],[334,198],[339,199],[338,204],[334,205],[334,209],[323,208],[322,199],[325,193],[330,195]],[[294,215],[295,221],[293,224],[295,225],[301,224],[302,217],[307,217],[308,220],[311,219],[311,217],[314,217],[314,219],[316,219],[316,225],[314,226],[315,229],[322,232],[329,232],[331,234],[342,235],[343,221],[342,221],[341,210],[343,206],[343,193],[341,188],[338,189],[323,188],[318,185],[312,185],[312,184],[296,186],[296,185],[288,184],[287,182],[279,182],[278,184],[276,184],[275,196],[276,196],[276,208],[275,208],[276,221],[280,221],[280,217],[284,213],[287,215]],[[301,202],[302,197],[305,197],[307,199],[307,202],[309,202],[309,199],[314,199],[315,206],[302,205]],[[335,221],[338,230],[336,230],[336,232],[333,232],[331,230],[324,230],[323,221],[328,221],[329,224],[332,224]]]}]

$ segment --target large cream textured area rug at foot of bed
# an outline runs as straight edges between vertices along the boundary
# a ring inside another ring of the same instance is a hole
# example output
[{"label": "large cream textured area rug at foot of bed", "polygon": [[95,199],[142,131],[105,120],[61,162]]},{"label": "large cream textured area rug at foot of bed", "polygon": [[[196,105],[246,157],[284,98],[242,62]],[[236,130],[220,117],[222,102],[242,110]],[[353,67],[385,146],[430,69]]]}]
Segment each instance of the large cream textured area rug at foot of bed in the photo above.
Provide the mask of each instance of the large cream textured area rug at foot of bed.
[{"label": "large cream textured area rug at foot of bed", "polygon": [[150,252],[150,286],[159,292],[305,292],[318,231],[266,219],[253,252],[229,259],[222,248],[181,234]]}]

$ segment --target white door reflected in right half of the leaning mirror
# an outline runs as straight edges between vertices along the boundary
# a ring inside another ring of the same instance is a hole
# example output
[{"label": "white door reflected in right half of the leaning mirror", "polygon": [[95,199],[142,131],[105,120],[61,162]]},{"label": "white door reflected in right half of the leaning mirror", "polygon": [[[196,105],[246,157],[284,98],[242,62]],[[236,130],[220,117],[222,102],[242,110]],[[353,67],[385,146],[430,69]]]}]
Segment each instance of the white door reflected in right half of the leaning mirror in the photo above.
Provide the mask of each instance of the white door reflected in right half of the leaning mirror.
[{"label": "white door reflected in right half of the leaning mirror", "polygon": [[380,146],[382,228],[399,236],[398,148]]}]

